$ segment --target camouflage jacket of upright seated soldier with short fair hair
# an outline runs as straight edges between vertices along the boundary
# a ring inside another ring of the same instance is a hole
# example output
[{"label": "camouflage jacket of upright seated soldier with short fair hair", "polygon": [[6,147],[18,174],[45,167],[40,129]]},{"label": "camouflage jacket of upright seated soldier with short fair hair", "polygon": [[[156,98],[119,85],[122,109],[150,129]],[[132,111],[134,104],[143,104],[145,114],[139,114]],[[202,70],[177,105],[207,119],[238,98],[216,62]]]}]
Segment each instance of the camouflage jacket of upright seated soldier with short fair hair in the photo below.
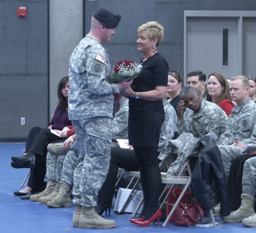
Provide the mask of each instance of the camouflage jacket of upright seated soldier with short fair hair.
[{"label": "camouflage jacket of upright seated soldier with short fair hair", "polygon": [[[246,99],[241,105],[232,109],[228,118],[227,127],[221,136],[225,145],[231,145],[235,140],[244,144],[255,144],[254,127],[256,123],[256,104],[251,98]],[[253,136],[253,138],[251,138]]]}]

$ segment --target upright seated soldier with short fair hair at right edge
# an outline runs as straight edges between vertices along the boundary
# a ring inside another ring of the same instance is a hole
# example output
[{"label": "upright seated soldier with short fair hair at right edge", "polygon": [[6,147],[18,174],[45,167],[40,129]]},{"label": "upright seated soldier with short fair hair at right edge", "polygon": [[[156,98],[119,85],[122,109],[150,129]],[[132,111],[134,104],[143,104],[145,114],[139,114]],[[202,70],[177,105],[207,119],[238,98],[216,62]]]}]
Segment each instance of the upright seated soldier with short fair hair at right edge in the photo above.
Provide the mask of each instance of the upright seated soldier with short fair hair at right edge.
[{"label": "upright seated soldier with short fair hair at right edge", "polygon": [[256,104],[249,98],[249,86],[245,76],[236,76],[230,82],[231,99],[237,106],[232,109],[225,132],[220,138],[223,143],[218,146],[227,180],[232,160],[241,155],[243,146],[256,144]]}]

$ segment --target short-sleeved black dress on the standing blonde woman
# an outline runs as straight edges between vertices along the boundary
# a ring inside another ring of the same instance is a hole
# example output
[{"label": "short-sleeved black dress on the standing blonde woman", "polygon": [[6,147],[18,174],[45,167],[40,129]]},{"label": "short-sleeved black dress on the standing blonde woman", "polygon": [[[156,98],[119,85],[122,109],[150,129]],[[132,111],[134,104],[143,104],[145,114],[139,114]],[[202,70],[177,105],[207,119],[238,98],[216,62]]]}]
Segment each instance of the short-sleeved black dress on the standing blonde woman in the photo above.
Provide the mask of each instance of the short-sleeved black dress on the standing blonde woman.
[{"label": "short-sleeved black dress on the standing blonde woman", "polygon": [[[158,52],[143,63],[140,75],[134,79],[131,88],[135,92],[152,91],[156,86],[167,86],[167,82],[168,63]],[[135,147],[157,147],[164,120],[162,100],[129,97],[129,144]]]}]

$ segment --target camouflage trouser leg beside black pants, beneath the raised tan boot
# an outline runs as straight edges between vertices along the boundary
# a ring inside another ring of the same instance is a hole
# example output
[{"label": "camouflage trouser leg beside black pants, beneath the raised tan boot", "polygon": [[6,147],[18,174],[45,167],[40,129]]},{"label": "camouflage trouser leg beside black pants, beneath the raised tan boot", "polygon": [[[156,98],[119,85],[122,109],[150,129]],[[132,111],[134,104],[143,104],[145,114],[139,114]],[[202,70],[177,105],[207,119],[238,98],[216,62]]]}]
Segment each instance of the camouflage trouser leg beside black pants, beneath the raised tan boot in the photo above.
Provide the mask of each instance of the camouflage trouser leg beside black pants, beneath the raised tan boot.
[{"label": "camouflage trouser leg beside black pants, beneath the raised tan boot", "polygon": [[61,171],[66,155],[52,155],[49,152],[46,157],[46,177],[48,180],[60,182]]}]

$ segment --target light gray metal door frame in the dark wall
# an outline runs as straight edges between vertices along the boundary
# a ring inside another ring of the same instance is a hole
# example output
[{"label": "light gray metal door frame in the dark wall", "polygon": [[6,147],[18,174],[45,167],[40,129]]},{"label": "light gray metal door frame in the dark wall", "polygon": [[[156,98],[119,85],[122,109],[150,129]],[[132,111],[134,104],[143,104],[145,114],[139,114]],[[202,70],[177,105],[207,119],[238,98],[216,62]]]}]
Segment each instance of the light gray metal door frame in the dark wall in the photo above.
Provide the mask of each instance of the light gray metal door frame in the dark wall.
[{"label": "light gray metal door frame in the dark wall", "polygon": [[187,18],[217,17],[217,18],[237,18],[237,36],[238,36],[238,74],[243,72],[243,18],[256,18],[256,11],[215,11],[215,10],[184,10],[184,86],[187,84]]}]

